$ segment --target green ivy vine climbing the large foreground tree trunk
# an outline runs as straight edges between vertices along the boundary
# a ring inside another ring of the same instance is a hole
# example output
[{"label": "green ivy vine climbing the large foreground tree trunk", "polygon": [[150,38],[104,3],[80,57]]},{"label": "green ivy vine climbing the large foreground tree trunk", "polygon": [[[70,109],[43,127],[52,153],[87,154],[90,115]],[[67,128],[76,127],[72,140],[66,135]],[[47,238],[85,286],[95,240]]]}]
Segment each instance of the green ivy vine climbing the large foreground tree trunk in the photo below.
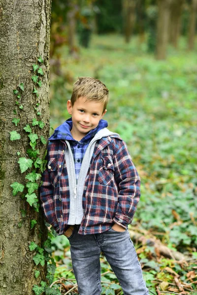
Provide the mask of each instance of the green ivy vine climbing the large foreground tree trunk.
[{"label": "green ivy vine climbing the large foreground tree trunk", "polygon": [[[38,89],[42,86],[42,77],[44,75],[42,70],[43,59],[41,57],[37,58],[36,64],[33,64],[33,94],[36,96],[36,98],[39,96]],[[22,117],[22,111],[23,111],[23,105],[22,105],[22,97],[24,92],[24,84],[21,83],[17,89],[13,90],[13,94],[16,96],[16,109],[13,110],[14,115],[18,115],[18,117]],[[40,159],[39,157],[39,148],[37,147],[37,140],[40,139],[40,142],[43,145],[46,145],[47,141],[44,138],[44,136],[38,136],[35,132],[35,128],[42,129],[45,126],[45,123],[39,119],[39,116],[41,115],[41,112],[39,111],[39,102],[36,102],[34,105],[34,111],[36,113],[35,118],[33,118],[31,124],[27,124],[22,128],[21,126],[21,119],[20,118],[12,118],[12,123],[15,124],[17,127],[20,124],[20,133],[25,132],[28,134],[28,137],[30,139],[29,145],[30,147],[25,149],[25,156],[21,156],[21,152],[17,151],[18,158],[18,164],[20,167],[21,174],[27,173],[25,175],[26,183],[25,185],[22,183],[19,183],[17,181],[13,182],[10,186],[12,187],[12,194],[13,196],[16,196],[18,193],[21,193],[22,199],[26,199],[28,204],[33,208],[35,212],[39,212],[39,202],[36,195],[36,191],[39,187],[39,182],[41,179],[41,173],[43,173],[46,165],[45,155],[44,159]],[[36,127],[35,127],[36,126]],[[10,140],[20,140],[21,134],[17,132],[16,130],[12,130],[10,132]],[[25,192],[25,193],[24,193]],[[23,194],[22,194],[23,193]],[[22,217],[26,216],[26,211],[24,209],[21,209],[21,215]],[[21,227],[23,222],[19,222],[18,226]],[[36,226],[37,221],[35,219],[32,219],[30,221],[30,228],[31,230]],[[47,282],[40,281],[40,286],[33,285],[33,292],[35,295],[41,295],[45,292],[46,295],[60,295],[61,293],[59,290],[56,290],[54,288],[50,288],[50,285],[53,282],[54,273],[56,269],[55,261],[52,258],[52,249],[51,249],[51,238],[52,233],[50,232],[48,234],[47,240],[44,241],[42,247],[36,245],[34,241],[31,242],[29,245],[30,251],[34,251],[35,254],[33,256],[33,261],[36,266],[41,265],[44,266],[45,262],[47,262],[47,275],[46,279]],[[34,271],[35,278],[38,278],[40,276],[40,271],[35,270]]]}]

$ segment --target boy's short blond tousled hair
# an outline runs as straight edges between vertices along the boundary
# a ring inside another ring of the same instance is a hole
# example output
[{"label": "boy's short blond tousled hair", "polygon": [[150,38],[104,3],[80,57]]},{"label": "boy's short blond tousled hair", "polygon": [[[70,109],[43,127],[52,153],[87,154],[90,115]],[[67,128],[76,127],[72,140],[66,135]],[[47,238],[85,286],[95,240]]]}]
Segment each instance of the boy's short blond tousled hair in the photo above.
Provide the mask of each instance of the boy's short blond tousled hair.
[{"label": "boy's short blond tousled hair", "polygon": [[103,112],[106,109],[109,100],[109,90],[99,80],[91,77],[78,77],[73,85],[71,104],[74,105],[79,97],[85,97],[87,100],[95,100],[103,103]]}]

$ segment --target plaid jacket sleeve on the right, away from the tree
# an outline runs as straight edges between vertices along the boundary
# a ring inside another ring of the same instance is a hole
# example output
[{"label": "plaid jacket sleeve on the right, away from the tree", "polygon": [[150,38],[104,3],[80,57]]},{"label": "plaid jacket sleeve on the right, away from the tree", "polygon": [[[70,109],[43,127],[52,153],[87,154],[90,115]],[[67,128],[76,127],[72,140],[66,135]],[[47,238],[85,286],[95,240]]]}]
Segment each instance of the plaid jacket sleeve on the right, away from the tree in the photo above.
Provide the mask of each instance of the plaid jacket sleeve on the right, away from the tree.
[{"label": "plaid jacket sleeve on the right, away from the tree", "polygon": [[118,206],[113,221],[127,228],[132,222],[140,198],[140,177],[124,141],[116,141],[114,177],[118,185]]}]

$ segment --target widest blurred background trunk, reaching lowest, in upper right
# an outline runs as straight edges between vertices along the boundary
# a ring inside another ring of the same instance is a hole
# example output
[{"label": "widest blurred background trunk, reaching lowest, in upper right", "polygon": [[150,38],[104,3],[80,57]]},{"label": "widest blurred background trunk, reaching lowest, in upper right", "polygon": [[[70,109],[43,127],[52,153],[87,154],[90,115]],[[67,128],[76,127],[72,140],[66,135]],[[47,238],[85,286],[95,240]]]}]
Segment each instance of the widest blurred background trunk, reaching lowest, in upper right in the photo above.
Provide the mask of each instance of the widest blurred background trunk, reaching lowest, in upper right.
[{"label": "widest blurred background trunk, reaching lowest, in upper right", "polygon": [[172,0],[158,0],[156,59],[166,58],[171,2]]}]

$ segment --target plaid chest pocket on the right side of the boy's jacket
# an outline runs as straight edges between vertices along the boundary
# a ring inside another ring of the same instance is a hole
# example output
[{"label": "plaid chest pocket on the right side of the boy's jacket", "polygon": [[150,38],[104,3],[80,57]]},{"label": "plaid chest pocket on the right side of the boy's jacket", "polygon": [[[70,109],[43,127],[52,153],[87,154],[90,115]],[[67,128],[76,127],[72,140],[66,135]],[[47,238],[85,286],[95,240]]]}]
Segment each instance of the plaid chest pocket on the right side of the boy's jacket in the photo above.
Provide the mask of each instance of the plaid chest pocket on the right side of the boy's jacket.
[{"label": "plaid chest pocket on the right side of the boy's jacket", "polygon": [[100,184],[114,186],[114,165],[110,156],[102,157],[98,180]]}]

